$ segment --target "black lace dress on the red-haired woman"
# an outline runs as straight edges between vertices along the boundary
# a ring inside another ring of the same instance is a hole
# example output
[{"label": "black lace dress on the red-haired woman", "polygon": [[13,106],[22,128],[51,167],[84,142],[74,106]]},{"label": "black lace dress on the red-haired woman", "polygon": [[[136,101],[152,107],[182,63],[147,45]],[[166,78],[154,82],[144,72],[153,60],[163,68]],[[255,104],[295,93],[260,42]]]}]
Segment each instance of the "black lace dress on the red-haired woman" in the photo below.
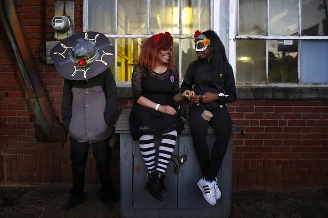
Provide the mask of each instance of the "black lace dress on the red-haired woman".
[{"label": "black lace dress on the red-haired woman", "polygon": [[[129,117],[130,133],[134,140],[142,135],[163,135],[177,130],[183,130],[178,104],[172,97],[179,93],[179,74],[166,70],[158,74],[138,64],[132,73],[132,92],[134,103]],[[137,104],[143,96],[152,102],[169,105],[177,110],[176,115],[163,114],[152,108]]]}]

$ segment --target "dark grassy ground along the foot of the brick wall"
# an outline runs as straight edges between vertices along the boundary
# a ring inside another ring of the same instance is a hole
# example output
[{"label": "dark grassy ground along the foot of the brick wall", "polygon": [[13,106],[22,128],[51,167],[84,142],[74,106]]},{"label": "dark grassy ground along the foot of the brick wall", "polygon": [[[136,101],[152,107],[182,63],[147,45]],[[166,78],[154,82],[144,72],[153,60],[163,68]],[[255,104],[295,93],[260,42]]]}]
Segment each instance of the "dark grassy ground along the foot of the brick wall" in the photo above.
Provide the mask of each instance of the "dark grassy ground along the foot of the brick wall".
[{"label": "dark grassy ground along the foot of the brick wall", "polygon": [[[63,212],[62,206],[69,198],[67,191],[68,188],[60,187],[0,186],[0,217],[120,217],[120,205],[107,209],[97,198],[96,189],[88,189],[87,203]],[[231,217],[325,218],[328,217],[328,188],[233,191]]]}]

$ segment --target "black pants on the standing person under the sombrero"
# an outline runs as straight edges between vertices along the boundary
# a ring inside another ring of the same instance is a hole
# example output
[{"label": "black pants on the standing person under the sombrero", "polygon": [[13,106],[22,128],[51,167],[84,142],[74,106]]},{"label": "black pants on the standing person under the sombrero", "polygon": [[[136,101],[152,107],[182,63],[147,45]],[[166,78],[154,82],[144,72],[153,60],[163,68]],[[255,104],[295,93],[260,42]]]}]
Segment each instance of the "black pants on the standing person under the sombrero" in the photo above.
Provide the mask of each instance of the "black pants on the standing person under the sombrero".
[{"label": "black pants on the standing person under the sombrero", "polygon": [[[71,144],[71,161],[72,161],[72,176],[73,176],[73,191],[72,194],[80,194],[84,191],[84,176],[85,167],[88,159],[88,151],[90,144],[88,142],[81,143],[69,137]],[[105,196],[111,194],[114,185],[110,178],[110,156],[111,147],[109,146],[109,138],[93,142],[91,144],[93,156],[97,162],[100,182],[102,188],[100,195]]]}]

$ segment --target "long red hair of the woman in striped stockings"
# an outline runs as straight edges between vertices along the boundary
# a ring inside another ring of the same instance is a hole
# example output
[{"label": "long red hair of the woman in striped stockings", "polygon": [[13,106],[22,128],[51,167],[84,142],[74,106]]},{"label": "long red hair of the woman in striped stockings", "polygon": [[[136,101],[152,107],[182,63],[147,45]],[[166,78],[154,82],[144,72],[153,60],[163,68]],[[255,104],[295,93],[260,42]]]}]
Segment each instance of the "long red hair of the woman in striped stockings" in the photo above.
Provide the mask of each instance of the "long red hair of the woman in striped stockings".
[{"label": "long red hair of the woman in striped stockings", "polygon": [[[148,38],[141,46],[141,52],[139,56],[139,62],[141,66],[148,69],[155,69],[157,62],[157,53],[160,50],[168,50],[173,45],[173,38],[170,35],[162,35],[160,39],[158,35],[151,36]],[[173,52],[170,55],[170,58],[167,63],[167,68],[171,71],[176,71],[176,68],[173,63]]]}]

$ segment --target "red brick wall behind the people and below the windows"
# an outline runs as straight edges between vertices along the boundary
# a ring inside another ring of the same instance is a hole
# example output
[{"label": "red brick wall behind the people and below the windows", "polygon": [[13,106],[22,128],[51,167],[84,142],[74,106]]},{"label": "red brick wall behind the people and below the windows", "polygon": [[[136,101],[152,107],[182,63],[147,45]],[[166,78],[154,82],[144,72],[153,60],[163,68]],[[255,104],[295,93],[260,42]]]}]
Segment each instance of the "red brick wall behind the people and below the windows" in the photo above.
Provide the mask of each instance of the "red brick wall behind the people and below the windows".
[{"label": "red brick wall behind the people and below the windows", "polygon": [[[16,1],[38,73],[57,116],[61,116],[63,78],[38,59],[41,45],[41,0]],[[75,31],[82,31],[82,1],[75,1]],[[47,1],[46,38],[53,40],[50,20],[54,1]],[[70,183],[69,144],[34,140],[31,110],[18,80],[11,50],[0,30],[0,182]],[[120,99],[122,108],[131,99]],[[328,101],[242,101],[229,105],[245,136],[235,136],[234,187],[328,185]],[[114,154],[119,154],[118,146]],[[118,173],[119,160],[113,167]],[[86,182],[97,183],[97,168],[88,159]],[[117,181],[118,182],[118,181]]]}]

